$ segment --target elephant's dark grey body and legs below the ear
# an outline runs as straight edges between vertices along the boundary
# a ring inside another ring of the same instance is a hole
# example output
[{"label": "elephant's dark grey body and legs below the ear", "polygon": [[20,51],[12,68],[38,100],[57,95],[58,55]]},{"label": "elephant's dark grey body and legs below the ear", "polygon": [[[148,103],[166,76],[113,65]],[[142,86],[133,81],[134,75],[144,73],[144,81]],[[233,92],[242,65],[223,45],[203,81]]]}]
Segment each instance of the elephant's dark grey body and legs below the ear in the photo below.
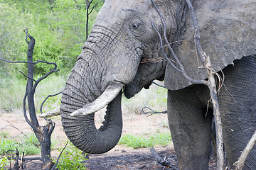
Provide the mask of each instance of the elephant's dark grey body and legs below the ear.
[{"label": "elephant's dark grey body and legs below the ear", "polygon": [[[241,151],[255,132],[255,68],[256,56],[252,55],[235,60],[234,65],[222,71],[225,87],[220,89],[218,100],[225,151],[231,165],[238,161]],[[208,169],[213,118],[209,100],[210,94],[205,85],[191,85],[168,92],[169,127],[181,169]],[[255,169],[255,156],[254,147],[244,169]]]}]

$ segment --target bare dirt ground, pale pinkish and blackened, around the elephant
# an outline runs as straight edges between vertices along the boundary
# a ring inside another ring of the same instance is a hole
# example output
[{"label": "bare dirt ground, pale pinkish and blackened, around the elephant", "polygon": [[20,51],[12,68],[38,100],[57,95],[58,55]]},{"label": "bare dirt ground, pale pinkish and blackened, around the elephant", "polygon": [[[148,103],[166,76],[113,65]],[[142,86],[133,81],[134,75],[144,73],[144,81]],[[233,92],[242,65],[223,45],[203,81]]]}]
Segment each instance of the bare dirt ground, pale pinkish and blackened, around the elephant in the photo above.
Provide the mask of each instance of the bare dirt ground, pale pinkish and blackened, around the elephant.
[{"label": "bare dirt ground, pale pinkish and blackened, around the elephant", "polygon": [[[97,127],[100,127],[103,114],[95,115]],[[41,125],[45,123],[43,118],[38,118]],[[56,123],[53,131],[53,140],[58,141],[57,145],[63,147],[68,140],[63,132],[60,118],[54,118]],[[123,133],[132,135],[149,136],[156,132],[169,132],[166,114],[157,114],[147,116],[144,114],[124,114],[123,115]],[[0,113],[0,130],[9,132],[9,135],[18,139],[23,133],[32,132],[23,118],[22,114]],[[166,158],[172,166],[178,168],[177,158],[174,152],[174,146],[171,143],[167,147],[154,147],[156,152]],[[117,145],[110,152],[100,155],[90,155],[86,161],[87,169],[109,170],[109,169],[171,169],[161,166],[156,162],[151,154],[150,148],[132,149],[124,145]],[[58,157],[59,152],[52,151],[52,157]],[[34,156],[32,156],[34,157]],[[37,156],[38,157],[38,156]],[[25,169],[41,169],[40,162],[31,162]],[[215,169],[215,163],[210,163],[210,169]]]}]

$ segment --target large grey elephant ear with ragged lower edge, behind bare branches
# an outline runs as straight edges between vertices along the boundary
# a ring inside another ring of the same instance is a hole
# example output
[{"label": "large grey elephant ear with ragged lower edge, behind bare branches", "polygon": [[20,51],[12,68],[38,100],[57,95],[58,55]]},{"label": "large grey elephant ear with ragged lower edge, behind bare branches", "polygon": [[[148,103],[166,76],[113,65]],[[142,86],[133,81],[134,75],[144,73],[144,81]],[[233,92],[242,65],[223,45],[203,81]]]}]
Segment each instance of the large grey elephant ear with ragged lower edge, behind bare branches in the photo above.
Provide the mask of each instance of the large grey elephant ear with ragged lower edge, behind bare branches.
[{"label": "large grey elephant ear with ragged lower edge, behind bare branches", "polygon": [[[193,1],[201,34],[201,46],[216,72],[234,60],[255,54],[256,48],[256,1]],[[178,36],[179,44],[174,51],[193,79],[206,79],[206,69],[196,54],[194,42],[195,31],[191,21],[191,11],[186,9],[186,23]],[[184,14],[184,13],[183,13]],[[177,16],[178,18],[178,16]],[[170,64],[166,67],[165,86],[178,90],[191,85],[182,74]]]}]

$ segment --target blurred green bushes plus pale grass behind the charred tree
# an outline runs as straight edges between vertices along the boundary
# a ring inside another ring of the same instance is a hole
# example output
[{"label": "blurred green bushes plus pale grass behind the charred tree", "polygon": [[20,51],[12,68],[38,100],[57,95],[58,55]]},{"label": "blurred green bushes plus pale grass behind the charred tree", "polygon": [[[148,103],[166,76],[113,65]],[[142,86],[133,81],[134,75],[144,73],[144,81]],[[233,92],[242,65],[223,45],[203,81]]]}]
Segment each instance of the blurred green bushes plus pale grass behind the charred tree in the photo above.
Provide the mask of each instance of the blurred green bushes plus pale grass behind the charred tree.
[{"label": "blurred green bushes plus pale grass behind the charred tree", "polygon": [[[36,102],[49,94],[63,90],[65,80],[80,55],[86,40],[86,0],[1,0],[0,1],[0,58],[26,61],[27,43],[24,28],[36,39],[33,60],[56,62],[60,71],[44,80],[36,91]],[[89,33],[98,11],[104,4],[97,3],[89,16]],[[38,79],[52,69],[48,64],[36,64],[34,75]],[[26,64],[11,64],[0,60],[0,110],[10,112],[22,107],[26,89]],[[35,78],[35,79],[36,79]],[[14,95],[15,94],[15,95]],[[40,96],[39,98],[37,98]],[[49,98],[56,106],[60,96]],[[55,103],[54,103],[55,102]],[[47,103],[46,103],[47,106]],[[48,104],[49,106],[49,104]],[[36,103],[36,108],[40,103]]]}]

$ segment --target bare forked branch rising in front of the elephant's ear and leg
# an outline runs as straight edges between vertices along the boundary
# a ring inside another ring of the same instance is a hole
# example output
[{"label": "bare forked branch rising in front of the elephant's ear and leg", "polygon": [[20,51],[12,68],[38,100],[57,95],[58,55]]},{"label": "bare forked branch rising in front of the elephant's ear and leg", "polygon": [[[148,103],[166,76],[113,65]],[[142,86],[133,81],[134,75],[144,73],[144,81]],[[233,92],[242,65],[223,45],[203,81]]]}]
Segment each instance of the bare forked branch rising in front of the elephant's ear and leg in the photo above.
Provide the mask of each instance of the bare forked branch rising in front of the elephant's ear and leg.
[{"label": "bare forked branch rising in front of the elephant's ear and leg", "polygon": [[173,55],[174,59],[176,60],[176,63],[178,64],[178,67],[169,60],[169,57],[166,56],[164,49],[163,49],[163,40],[161,38],[161,34],[159,31],[156,29],[154,26],[154,23],[151,22],[151,25],[153,26],[154,30],[156,30],[156,33],[159,35],[159,40],[160,40],[160,49],[161,52],[163,53],[164,57],[166,57],[166,60],[171,64],[174,69],[177,70],[177,72],[180,72],[183,74],[183,77],[187,79],[189,82],[193,84],[205,84],[208,86],[210,90],[210,100],[213,103],[213,113],[215,115],[215,128],[216,128],[216,141],[217,141],[217,167],[218,169],[223,169],[224,168],[224,152],[223,152],[223,130],[222,130],[222,125],[221,125],[221,118],[220,118],[220,109],[218,105],[218,98],[217,98],[217,90],[216,90],[216,83],[215,83],[215,71],[213,70],[211,63],[210,63],[210,57],[206,55],[205,52],[203,52],[202,47],[201,47],[201,41],[200,41],[200,33],[199,33],[199,27],[198,27],[198,22],[196,19],[196,13],[193,9],[193,6],[191,4],[190,0],[186,0],[186,3],[188,4],[188,8],[191,10],[191,19],[193,21],[193,27],[195,29],[195,44],[196,44],[196,50],[198,52],[198,55],[201,59],[201,62],[206,68],[207,74],[208,74],[208,81],[205,80],[196,80],[192,79],[191,77],[188,77],[186,74],[185,69],[183,68],[183,65],[181,64],[180,60],[176,56],[174,50],[171,48],[171,45],[169,43],[169,40],[166,36],[166,23],[164,22],[164,17],[161,15],[159,9],[157,8],[156,4],[154,3],[154,0],[151,0],[151,2],[154,4],[154,7],[156,8],[156,11],[159,13],[159,16],[161,18],[161,23],[163,24],[164,27],[164,40],[167,44],[168,49],[171,51],[171,55]]}]

